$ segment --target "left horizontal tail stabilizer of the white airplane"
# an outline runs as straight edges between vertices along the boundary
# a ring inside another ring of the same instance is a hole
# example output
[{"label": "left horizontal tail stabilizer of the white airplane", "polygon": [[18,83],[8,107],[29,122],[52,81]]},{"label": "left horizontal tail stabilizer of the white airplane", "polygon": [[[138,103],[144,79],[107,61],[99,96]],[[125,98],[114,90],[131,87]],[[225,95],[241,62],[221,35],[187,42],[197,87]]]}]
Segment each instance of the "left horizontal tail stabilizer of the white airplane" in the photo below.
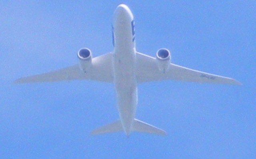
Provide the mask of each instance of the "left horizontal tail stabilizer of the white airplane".
[{"label": "left horizontal tail stabilizer of the white airplane", "polygon": [[117,131],[122,131],[123,127],[120,122],[120,120],[114,121],[113,123],[110,123],[108,125],[105,125],[103,127],[100,127],[98,129],[95,129],[91,131],[92,135],[101,134],[101,133],[112,133]]}]

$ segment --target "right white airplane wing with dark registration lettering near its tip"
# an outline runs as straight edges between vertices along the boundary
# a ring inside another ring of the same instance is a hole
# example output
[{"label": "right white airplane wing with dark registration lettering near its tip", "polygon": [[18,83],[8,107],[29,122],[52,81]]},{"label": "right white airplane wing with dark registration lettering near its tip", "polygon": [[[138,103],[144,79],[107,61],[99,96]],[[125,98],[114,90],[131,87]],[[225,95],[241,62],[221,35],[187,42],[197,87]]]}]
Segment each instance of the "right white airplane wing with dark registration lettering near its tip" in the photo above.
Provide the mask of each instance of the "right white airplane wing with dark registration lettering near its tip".
[{"label": "right white airplane wing with dark registration lettering near its tip", "polygon": [[223,83],[241,85],[240,82],[232,78],[209,74],[185,68],[170,63],[168,72],[160,72],[156,64],[156,58],[137,52],[137,82],[160,81],[160,80],[178,80],[192,81],[198,83]]}]

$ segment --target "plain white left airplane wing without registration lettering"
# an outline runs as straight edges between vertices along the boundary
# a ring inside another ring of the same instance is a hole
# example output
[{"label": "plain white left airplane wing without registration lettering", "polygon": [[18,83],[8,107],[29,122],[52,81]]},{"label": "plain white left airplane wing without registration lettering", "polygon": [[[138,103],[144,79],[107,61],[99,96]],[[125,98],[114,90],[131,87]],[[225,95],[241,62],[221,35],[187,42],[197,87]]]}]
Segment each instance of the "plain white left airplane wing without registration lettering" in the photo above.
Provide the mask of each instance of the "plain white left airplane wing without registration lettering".
[{"label": "plain white left airplane wing without registration lettering", "polygon": [[14,81],[14,83],[54,82],[88,79],[95,81],[113,82],[112,53],[92,58],[90,71],[84,73],[78,64],[60,70],[28,76]]}]

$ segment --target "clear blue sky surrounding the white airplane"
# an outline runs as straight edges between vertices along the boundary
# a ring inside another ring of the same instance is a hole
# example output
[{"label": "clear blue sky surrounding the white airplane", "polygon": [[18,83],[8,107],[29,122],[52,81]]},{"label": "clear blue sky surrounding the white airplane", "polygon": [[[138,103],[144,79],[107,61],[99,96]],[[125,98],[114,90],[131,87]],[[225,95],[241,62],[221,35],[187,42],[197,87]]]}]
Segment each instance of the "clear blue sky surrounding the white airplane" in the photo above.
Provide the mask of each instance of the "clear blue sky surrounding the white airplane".
[{"label": "clear blue sky surrounding the white airplane", "polygon": [[[167,136],[91,136],[118,119],[113,84],[15,85],[20,77],[77,63],[82,47],[113,50],[112,16],[127,4],[137,50],[237,79],[242,86],[160,81],[138,85],[136,118]],[[256,1],[1,0],[1,159],[255,159]]]}]

